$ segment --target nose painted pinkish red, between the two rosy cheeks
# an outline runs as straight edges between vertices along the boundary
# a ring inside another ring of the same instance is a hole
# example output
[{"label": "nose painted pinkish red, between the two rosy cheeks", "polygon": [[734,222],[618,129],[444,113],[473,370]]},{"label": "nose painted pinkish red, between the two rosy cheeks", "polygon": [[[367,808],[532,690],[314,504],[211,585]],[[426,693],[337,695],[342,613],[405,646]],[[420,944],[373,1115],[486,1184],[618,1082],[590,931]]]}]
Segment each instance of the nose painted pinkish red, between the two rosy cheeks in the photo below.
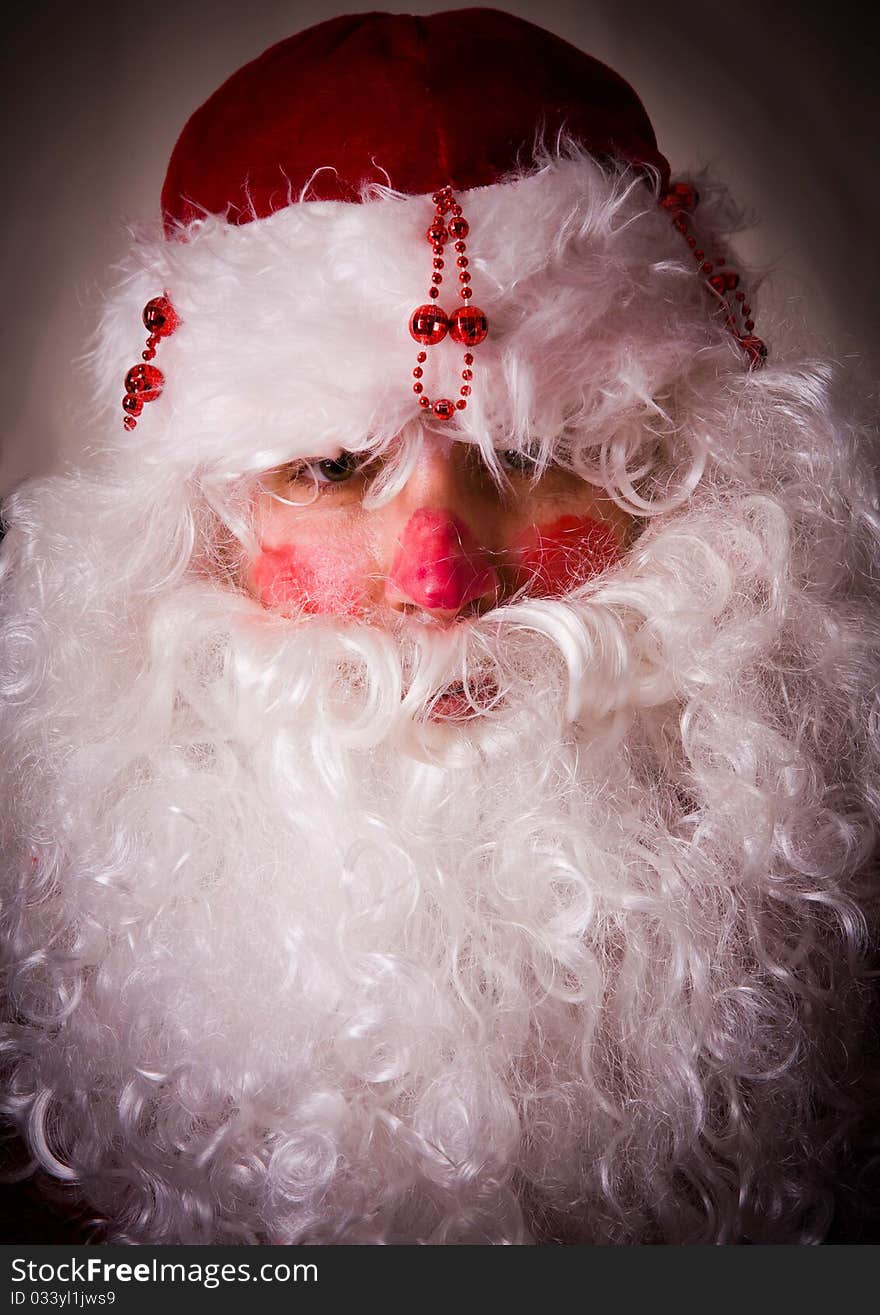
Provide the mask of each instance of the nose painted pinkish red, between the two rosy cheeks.
[{"label": "nose painted pinkish red, between the two rosy cheeks", "polygon": [[388,579],[429,611],[460,611],[499,589],[493,567],[464,522],[430,508],[420,508],[404,526]]}]

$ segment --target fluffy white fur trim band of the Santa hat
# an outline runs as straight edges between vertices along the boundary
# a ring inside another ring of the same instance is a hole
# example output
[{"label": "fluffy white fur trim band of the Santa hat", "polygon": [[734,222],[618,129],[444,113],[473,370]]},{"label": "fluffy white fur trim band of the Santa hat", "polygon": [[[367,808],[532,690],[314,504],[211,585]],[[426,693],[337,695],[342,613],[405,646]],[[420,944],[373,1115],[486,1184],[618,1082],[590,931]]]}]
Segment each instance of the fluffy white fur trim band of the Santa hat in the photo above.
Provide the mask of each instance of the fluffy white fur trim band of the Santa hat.
[{"label": "fluffy white fur trim band of the Santa hat", "polygon": [[[609,398],[622,413],[704,342],[681,238],[643,181],[559,160],[458,200],[489,333],[456,437],[527,441]],[[409,321],[428,301],[433,214],[430,197],[301,203],[164,243],[138,289],[167,289],[183,321],[163,345],[155,441],[174,456],[183,429],[189,456],[246,469],[381,443],[417,419]],[[445,271],[449,310],[455,280]],[[446,338],[425,351],[426,391],[458,397],[463,348]]]}]

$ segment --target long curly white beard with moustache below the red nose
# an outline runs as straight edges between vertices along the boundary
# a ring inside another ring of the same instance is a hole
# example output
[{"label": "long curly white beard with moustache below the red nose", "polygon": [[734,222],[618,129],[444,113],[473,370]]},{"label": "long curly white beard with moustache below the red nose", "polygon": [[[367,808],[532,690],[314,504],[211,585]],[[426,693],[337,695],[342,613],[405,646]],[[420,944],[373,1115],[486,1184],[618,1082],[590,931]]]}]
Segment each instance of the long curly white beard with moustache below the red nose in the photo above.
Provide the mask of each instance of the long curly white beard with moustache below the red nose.
[{"label": "long curly white beard with moustache below the red nose", "polygon": [[7,627],[5,1109],[104,1236],[822,1236],[868,627],[783,531],[695,509],[446,635],[189,583],[78,643],[67,589],[63,684]]}]

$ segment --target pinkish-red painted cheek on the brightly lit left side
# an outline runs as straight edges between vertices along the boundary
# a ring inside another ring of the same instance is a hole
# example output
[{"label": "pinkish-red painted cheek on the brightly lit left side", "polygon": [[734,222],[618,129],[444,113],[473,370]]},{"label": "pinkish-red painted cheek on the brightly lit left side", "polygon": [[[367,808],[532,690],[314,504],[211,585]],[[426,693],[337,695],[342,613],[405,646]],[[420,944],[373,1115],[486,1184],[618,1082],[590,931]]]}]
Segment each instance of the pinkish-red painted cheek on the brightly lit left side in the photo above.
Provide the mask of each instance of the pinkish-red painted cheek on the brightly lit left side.
[{"label": "pinkish-red painted cheek on the brightly lit left side", "polygon": [[251,563],[253,590],[264,608],[351,615],[368,598],[366,569],[326,544],[263,548]]}]

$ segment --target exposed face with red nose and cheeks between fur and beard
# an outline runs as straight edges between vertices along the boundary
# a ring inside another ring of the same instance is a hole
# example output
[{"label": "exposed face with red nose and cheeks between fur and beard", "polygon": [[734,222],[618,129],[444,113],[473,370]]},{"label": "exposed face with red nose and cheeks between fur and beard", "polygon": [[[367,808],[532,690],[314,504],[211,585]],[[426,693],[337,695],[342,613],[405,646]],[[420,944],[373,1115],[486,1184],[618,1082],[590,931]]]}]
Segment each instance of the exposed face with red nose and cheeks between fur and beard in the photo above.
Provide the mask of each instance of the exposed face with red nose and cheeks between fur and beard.
[{"label": "exposed face with red nose and cheeks between fur and beard", "polygon": [[[393,455],[393,454],[392,454]],[[560,597],[612,565],[631,518],[577,475],[426,431],[387,497],[381,463],[341,452],[271,472],[246,586],[285,614],[450,623],[514,596]]]}]

